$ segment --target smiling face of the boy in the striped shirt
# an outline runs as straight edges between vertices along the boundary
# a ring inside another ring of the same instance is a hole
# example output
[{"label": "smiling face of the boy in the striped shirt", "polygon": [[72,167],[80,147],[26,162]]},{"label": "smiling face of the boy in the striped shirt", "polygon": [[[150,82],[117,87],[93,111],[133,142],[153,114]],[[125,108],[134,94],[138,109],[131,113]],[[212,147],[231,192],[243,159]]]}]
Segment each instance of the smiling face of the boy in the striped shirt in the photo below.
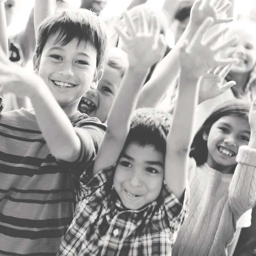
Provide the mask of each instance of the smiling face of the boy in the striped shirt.
[{"label": "smiling face of the boy in the striped shirt", "polygon": [[76,108],[90,86],[96,86],[96,50],[91,44],[73,39],[61,46],[57,35],[47,41],[41,54],[38,75],[44,79],[62,108]]}]

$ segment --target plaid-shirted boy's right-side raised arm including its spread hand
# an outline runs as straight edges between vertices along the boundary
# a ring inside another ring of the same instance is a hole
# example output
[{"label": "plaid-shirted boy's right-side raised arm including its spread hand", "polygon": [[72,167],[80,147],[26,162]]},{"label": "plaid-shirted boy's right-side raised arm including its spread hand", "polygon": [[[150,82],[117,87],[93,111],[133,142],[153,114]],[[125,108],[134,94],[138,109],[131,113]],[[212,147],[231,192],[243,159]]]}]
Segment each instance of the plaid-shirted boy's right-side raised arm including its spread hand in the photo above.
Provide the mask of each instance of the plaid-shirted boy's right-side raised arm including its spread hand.
[{"label": "plaid-shirted boy's right-side raised arm including its spread hand", "polygon": [[[174,195],[180,199],[186,188],[189,150],[192,142],[195,107],[198,101],[200,79],[209,67],[216,64],[227,65],[230,59],[216,60],[215,54],[227,47],[227,42],[213,50],[215,42],[221,36],[223,29],[216,32],[202,43],[203,36],[212,25],[208,18],[198,29],[188,46],[180,49],[181,74],[180,91],[174,110],[172,128],[166,142],[165,180]],[[229,43],[232,44],[232,43]]]}]

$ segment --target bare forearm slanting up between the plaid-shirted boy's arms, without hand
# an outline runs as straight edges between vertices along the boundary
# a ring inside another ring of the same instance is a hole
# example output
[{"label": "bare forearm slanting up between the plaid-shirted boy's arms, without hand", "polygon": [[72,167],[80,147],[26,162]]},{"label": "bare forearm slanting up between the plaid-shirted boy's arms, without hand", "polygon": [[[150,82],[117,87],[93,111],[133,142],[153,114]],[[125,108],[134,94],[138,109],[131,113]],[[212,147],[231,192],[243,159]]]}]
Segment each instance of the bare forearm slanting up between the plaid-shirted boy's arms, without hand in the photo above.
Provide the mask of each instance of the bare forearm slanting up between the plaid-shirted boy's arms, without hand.
[{"label": "bare forearm slanting up between the plaid-shirted boy's arms, without hand", "polygon": [[151,79],[143,86],[140,92],[138,107],[156,107],[166,91],[171,86],[175,87],[180,72],[178,64],[180,45],[185,40],[191,41],[196,31],[197,28],[189,24],[175,47],[157,65]]}]

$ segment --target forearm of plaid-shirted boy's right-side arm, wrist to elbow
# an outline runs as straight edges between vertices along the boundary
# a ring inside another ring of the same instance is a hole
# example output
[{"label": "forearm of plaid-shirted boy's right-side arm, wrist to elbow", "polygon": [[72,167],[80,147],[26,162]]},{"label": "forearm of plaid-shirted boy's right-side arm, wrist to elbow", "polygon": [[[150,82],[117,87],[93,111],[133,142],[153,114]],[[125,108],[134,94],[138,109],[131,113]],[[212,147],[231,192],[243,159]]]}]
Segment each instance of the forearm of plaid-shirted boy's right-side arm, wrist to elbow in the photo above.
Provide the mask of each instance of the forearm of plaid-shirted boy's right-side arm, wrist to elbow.
[{"label": "forearm of plaid-shirted boy's right-side arm, wrist to elbow", "polygon": [[167,138],[169,147],[173,146],[174,151],[189,151],[198,101],[198,84],[198,79],[189,79],[186,74],[181,73],[179,96],[174,108],[172,128]]}]

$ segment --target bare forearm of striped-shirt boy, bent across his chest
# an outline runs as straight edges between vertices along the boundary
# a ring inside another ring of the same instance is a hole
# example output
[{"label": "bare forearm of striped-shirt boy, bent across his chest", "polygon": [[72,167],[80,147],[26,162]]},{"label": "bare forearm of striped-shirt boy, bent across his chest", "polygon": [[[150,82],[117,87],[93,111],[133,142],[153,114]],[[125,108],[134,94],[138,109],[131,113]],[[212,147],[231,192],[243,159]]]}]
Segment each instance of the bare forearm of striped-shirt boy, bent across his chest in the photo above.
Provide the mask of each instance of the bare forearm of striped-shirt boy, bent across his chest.
[{"label": "bare forearm of striped-shirt boy, bent across his chest", "polygon": [[36,82],[38,89],[30,99],[51,154],[58,160],[76,161],[81,151],[79,137],[44,81],[38,78]]}]

